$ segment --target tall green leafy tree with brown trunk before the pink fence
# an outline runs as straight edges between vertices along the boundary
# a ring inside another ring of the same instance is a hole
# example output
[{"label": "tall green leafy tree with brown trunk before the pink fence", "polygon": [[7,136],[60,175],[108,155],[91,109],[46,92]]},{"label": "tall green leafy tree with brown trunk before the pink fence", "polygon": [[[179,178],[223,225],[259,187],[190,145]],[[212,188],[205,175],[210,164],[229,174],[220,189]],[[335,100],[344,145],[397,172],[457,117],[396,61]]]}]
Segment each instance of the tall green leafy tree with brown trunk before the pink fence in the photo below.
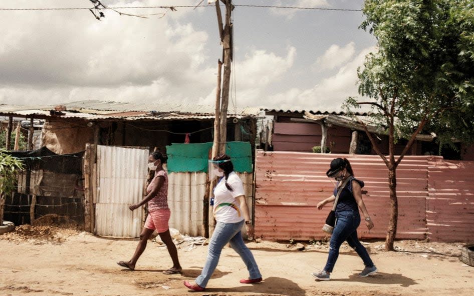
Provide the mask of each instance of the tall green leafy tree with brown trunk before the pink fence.
[{"label": "tall green leafy tree with brown trunk before the pink fence", "polygon": [[[385,250],[393,250],[397,231],[396,169],[416,135],[429,127],[438,139],[472,142],[474,131],[474,2],[471,0],[367,0],[361,28],[373,34],[377,51],[358,70],[359,94],[353,110],[369,105],[371,116],[388,134],[390,222]],[[360,123],[363,124],[362,121]],[[399,138],[409,139],[395,157]]]}]

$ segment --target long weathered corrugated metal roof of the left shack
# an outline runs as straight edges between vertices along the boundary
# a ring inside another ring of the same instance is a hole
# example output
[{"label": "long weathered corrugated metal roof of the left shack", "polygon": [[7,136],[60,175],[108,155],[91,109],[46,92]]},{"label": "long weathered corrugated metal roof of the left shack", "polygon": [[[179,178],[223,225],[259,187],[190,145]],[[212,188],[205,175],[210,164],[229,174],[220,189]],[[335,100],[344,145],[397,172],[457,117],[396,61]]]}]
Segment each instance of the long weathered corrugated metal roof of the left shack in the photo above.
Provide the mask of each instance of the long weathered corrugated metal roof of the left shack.
[{"label": "long weathered corrugated metal roof of the left shack", "polygon": [[[53,115],[55,106],[64,105],[66,111]],[[114,101],[86,100],[57,105],[0,105],[0,114],[11,116],[58,118],[83,118],[87,120],[123,119],[123,120],[190,120],[212,119],[215,107],[196,104],[138,104]],[[257,117],[260,108],[229,108],[227,116],[235,118]]]}]

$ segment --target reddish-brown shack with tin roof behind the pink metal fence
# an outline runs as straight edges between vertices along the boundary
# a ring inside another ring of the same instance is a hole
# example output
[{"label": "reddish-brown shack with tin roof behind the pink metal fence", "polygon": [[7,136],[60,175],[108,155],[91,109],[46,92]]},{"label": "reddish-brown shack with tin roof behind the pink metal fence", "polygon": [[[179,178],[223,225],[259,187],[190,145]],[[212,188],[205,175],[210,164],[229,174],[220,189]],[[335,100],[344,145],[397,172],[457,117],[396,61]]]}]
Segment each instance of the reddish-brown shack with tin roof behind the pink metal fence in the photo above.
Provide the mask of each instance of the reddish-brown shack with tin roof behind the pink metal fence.
[{"label": "reddish-brown shack with tin roof behind the pink metal fence", "polygon": [[[361,124],[343,112],[269,110],[274,116],[272,145],[274,151],[311,152],[315,146],[327,147],[326,152],[376,154]],[[363,121],[366,113],[356,113]],[[379,148],[388,154],[388,136],[366,121],[369,131],[378,139]],[[409,155],[424,155],[432,151],[432,135],[418,135]],[[399,141],[395,153],[401,153],[405,141]],[[324,151],[323,151],[324,152]]]}]

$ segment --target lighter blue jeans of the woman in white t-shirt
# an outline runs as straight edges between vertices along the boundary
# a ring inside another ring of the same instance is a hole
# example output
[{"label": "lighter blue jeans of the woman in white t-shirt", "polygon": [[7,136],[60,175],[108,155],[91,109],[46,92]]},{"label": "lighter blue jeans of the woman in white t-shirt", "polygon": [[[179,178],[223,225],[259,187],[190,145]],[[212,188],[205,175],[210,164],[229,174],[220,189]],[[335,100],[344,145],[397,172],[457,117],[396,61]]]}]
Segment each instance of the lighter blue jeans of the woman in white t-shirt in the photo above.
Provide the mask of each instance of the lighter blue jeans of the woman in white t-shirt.
[{"label": "lighter blue jeans of the woman in white t-shirt", "polygon": [[242,238],[241,229],[244,225],[244,220],[237,223],[223,223],[217,222],[215,224],[214,233],[209,241],[209,248],[207,250],[207,258],[204,267],[202,268],[201,274],[196,277],[196,283],[201,287],[206,287],[207,281],[214,273],[215,267],[219,262],[220,252],[222,248],[230,242],[230,246],[236,251],[244,260],[249,270],[249,278],[262,277],[260,274],[259,266],[255,262],[254,255],[250,249],[245,245],[244,239]]}]

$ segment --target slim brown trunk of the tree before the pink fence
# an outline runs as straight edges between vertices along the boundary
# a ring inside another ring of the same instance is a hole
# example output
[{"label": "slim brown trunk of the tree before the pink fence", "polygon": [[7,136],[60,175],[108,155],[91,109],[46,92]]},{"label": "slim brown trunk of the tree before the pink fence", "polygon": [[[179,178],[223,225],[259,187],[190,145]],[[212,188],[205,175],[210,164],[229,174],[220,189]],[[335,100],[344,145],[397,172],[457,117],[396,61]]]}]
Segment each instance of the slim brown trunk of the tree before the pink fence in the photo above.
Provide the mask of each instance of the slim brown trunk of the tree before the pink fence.
[{"label": "slim brown trunk of the tree before the pink fence", "polygon": [[390,164],[388,167],[388,188],[390,190],[390,222],[388,223],[385,250],[393,251],[393,242],[397,233],[398,200],[397,200],[397,166]]}]

